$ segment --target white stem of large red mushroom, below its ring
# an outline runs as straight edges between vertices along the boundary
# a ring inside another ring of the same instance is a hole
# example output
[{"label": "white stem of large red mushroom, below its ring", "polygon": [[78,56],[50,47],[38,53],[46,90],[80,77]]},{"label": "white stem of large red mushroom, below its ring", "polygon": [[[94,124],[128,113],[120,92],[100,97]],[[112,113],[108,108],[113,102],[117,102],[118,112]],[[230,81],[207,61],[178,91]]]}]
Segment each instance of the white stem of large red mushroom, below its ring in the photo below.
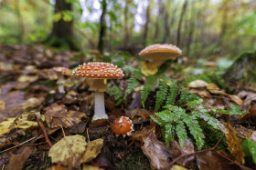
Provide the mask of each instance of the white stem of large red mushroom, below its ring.
[{"label": "white stem of large red mushroom, below its ring", "polygon": [[95,92],[94,116],[92,121],[107,118],[108,115],[106,114],[104,105],[104,92]]}]

